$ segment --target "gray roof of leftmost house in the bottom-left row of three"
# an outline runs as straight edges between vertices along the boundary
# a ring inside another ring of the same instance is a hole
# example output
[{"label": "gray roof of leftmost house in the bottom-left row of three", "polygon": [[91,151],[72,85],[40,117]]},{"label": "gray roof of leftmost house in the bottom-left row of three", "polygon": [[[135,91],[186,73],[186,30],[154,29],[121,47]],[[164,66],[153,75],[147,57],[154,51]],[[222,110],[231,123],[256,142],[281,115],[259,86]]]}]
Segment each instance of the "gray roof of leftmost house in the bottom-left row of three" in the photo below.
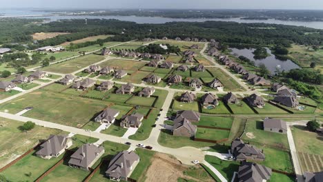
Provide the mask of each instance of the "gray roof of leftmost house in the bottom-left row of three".
[{"label": "gray roof of leftmost house in the bottom-left row of three", "polygon": [[65,148],[66,143],[68,143],[68,139],[69,138],[66,136],[50,135],[48,140],[40,145],[41,149],[38,150],[36,154],[41,156],[57,154]]}]

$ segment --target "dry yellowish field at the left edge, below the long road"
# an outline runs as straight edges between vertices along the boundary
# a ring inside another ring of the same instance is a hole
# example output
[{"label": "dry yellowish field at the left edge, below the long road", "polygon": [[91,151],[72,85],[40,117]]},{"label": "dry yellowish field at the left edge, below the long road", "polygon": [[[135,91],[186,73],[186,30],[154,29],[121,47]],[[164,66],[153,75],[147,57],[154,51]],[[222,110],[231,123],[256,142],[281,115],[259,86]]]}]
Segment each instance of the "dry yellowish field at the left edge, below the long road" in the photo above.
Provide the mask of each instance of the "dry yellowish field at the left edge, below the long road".
[{"label": "dry yellowish field at the left edge, below the long road", "polygon": [[37,145],[40,139],[47,139],[50,134],[61,132],[37,125],[29,132],[21,132],[19,126],[23,125],[22,122],[4,118],[0,118],[0,125],[0,168]]}]

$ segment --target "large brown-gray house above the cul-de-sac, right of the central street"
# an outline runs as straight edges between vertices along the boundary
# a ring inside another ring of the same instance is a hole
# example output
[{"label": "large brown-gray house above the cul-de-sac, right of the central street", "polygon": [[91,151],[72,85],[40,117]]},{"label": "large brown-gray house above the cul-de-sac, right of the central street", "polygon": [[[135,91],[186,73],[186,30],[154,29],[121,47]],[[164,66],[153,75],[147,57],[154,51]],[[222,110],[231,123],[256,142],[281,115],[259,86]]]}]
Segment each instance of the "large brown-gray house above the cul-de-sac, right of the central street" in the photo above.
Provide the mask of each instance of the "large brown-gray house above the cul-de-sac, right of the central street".
[{"label": "large brown-gray house above the cul-de-sac, right of the central street", "polygon": [[188,119],[182,118],[174,121],[173,135],[194,137],[197,132],[197,126],[193,125]]}]

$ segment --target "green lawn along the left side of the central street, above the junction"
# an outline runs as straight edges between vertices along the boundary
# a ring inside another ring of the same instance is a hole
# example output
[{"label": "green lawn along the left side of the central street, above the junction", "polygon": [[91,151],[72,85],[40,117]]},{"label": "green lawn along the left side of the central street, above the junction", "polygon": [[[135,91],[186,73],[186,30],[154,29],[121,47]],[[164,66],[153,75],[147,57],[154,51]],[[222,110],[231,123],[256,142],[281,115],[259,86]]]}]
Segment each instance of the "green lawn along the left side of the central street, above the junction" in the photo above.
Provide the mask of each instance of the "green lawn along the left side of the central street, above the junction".
[{"label": "green lawn along the left side of the central street, above the junction", "polygon": [[[145,112],[147,113],[148,110],[143,112],[139,112],[138,110],[137,112],[140,114],[144,114]],[[139,127],[137,132],[129,136],[128,139],[133,139],[138,141],[143,141],[145,139],[148,139],[148,137],[150,136],[151,130],[153,130],[153,124],[155,124],[158,113],[159,113],[159,110],[153,110],[152,112],[150,112],[149,117],[141,121],[142,122],[141,126]]]}]

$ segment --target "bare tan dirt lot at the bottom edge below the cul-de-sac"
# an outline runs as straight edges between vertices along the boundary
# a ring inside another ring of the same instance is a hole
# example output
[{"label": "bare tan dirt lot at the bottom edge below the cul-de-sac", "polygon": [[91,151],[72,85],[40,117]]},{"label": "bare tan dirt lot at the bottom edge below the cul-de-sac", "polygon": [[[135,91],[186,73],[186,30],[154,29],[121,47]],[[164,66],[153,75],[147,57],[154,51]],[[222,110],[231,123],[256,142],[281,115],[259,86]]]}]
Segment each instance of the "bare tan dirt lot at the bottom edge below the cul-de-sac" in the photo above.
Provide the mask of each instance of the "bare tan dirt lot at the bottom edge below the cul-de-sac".
[{"label": "bare tan dirt lot at the bottom edge below the cul-de-sac", "polygon": [[[198,165],[195,167],[195,170],[191,170],[192,167],[182,165],[177,159],[173,159],[167,154],[155,154],[154,158],[151,161],[151,165],[148,168],[145,176],[145,181],[177,181],[177,179],[187,179],[193,181],[213,181],[210,176],[205,176],[204,169]],[[190,172],[185,172],[190,171]],[[194,172],[193,172],[194,171]],[[204,175],[199,175],[204,173]],[[186,174],[188,175],[186,175]],[[189,174],[195,174],[194,177]]]}]

